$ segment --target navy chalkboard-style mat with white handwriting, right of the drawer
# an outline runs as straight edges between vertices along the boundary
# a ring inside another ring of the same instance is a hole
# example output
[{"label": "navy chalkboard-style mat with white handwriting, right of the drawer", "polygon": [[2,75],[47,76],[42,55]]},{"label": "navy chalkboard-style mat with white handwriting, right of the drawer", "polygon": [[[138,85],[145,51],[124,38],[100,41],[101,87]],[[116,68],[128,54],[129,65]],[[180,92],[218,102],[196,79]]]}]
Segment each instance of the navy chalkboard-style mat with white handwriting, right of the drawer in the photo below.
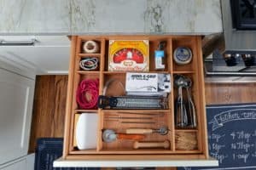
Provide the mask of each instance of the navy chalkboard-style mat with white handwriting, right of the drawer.
[{"label": "navy chalkboard-style mat with white handwriting, right of the drawer", "polygon": [[256,104],[208,105],[207,130],[209,155],[219,167],[177,169],[256,169]]}]

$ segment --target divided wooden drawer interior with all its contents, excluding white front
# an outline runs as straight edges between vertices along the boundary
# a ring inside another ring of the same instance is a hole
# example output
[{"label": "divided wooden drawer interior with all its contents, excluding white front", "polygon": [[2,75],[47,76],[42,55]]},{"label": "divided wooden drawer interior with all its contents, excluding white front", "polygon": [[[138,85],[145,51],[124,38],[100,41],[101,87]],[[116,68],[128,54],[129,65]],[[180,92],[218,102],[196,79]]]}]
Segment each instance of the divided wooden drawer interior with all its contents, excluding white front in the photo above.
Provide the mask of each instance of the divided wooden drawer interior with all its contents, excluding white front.
[{"label": "divided wooden drawer interior with all its contents, excluding white front", "polygon": [[207,159],[201,37],[73,36],[66,116],[65,159]]}]

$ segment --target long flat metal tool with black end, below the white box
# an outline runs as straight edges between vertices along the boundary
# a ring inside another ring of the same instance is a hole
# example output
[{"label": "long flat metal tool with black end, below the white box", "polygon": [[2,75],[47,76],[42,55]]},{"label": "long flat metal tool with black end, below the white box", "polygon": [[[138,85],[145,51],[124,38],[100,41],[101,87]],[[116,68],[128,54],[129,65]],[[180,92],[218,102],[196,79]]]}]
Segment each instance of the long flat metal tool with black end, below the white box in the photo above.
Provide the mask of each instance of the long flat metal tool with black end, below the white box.
[{"label": "long flat metal tool with black end, below the white box", "polygon": [[145,96],[99,96],[98,107],[102,109],[168,109],[165,97]]}]

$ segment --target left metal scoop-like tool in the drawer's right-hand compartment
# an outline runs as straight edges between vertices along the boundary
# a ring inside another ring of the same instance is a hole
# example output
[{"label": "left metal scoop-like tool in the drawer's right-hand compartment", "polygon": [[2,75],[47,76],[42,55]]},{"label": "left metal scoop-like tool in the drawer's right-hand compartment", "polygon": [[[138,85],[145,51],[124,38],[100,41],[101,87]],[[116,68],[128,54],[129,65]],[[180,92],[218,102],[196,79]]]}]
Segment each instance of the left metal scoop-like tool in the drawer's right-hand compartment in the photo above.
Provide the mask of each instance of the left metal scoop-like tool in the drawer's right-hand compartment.
[{"label": "left metal scoop-like tool in the drawer's right-hand compartment", "polygon": [[174,77],[174,85],[178,89],[178,95],[175,102],[175,125],[177,127],[186,127],[188,125],[188,115],[185,104],[183,102],[183,88],[185,87],[185,79],[181,75]]}]

